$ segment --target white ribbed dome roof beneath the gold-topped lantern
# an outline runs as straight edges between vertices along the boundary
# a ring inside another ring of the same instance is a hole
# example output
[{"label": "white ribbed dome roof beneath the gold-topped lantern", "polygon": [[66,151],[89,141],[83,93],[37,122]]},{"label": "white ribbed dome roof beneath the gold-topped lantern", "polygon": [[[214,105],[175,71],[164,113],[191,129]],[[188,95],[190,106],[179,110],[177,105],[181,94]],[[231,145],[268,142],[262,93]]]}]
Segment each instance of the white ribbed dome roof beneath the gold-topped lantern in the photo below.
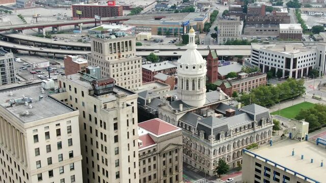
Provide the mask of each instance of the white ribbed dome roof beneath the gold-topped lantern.
[{"label": "white ribbed dome roof beneath the gold-topped lantern", "polygon": [[203,56],[197,49],[187,49],[178,60],[182,65],[200,65],[205,63]]}]

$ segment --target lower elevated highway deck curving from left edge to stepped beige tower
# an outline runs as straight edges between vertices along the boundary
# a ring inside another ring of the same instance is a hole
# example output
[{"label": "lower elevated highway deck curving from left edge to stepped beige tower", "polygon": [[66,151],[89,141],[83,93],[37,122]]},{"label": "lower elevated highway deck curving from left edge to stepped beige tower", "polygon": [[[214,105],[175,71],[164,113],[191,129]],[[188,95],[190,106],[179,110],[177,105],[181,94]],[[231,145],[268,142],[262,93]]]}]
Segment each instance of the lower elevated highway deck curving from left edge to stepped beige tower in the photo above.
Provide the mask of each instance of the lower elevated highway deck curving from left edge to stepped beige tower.
[{"label": "lower elevated highway deck curving from left edge to stepped beige tower", "polygon": [[40,52],[40,53],[51,53],[51,54],[63,54],[63,55],[80,55],[88,54],[91,51],[79,51],[79,50],[67,50],[67,49],[49,49],[49,48],[40,48],[40,47],[30,47],[25,45],[8,43],[6,41],[0,41],[0,46],[5,48],[31,51],[31,52]]}]

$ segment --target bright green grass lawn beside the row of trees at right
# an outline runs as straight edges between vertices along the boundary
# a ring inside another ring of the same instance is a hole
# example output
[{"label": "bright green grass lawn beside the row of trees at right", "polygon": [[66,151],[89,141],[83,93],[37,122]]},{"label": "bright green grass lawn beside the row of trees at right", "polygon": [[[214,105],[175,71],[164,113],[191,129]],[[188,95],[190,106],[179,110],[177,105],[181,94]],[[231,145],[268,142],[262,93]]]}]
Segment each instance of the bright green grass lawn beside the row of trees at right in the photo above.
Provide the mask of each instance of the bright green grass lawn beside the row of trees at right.
[{"label": "bright green grass lawn beside the row of trees at right", "polygon": [[[294,106],[290,106],[290,107],[281,109],[281,116],[289,118],[289,119],[294,118],[300,112],[301,109],[309,109],[309,108],[314,107],[314,106],[315,106],[315,104],[310,103],[310,102],[303,102],[303,103],[300,103],[300,104],[296,104]],[[280,111],[275,111],[275,112],[272,112],[270,114],[279,115]]]}]

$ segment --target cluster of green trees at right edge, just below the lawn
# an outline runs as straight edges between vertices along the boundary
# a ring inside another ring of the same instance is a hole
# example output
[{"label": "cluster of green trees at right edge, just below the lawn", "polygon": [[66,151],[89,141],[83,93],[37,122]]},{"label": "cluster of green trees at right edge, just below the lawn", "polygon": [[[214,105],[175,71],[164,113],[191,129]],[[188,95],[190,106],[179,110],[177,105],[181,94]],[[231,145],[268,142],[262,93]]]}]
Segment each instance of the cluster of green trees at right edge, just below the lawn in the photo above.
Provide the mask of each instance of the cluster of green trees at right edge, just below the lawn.
[{"label": "cluster of green trees at right edge, just below the lawn", "polygon": [[309,130],[317,130],[326,125],[326,105],[316,104],[309,109],[301,109],[295,119],[309,122]]}]

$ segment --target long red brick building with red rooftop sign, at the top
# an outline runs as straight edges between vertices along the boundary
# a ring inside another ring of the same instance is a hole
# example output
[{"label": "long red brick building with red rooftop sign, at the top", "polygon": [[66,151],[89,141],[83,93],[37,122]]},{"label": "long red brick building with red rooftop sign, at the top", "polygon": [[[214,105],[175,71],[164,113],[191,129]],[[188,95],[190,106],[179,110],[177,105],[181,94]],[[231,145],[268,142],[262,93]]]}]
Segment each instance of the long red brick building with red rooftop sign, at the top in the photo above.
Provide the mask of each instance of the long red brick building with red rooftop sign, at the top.
[{"label": "long red brick building with red rooftop sign, at the top", "polygon": [[115,17],[122,16],[123,10],[122,6],[107,6],[107,5],[91,5],[91,4],[77,4],[72,5],[72,17],[79,18],[77,11],[82,11],[80,18],[94,18],[94,15],[100,17]]}]

